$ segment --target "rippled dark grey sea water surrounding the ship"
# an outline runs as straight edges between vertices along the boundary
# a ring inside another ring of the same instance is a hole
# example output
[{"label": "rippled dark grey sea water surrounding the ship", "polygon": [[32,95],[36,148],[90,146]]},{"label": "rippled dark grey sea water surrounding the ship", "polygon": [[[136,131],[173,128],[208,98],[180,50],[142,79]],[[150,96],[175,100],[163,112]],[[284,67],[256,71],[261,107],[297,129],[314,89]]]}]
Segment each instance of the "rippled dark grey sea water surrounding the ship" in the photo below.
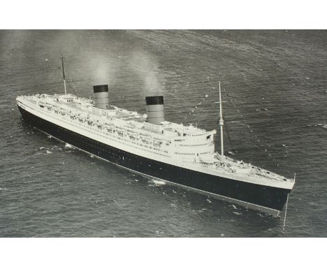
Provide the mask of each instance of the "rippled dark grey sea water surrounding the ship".
[{"label": "rippled dark grey sea water surrounding the ship", "polygon": [[[326,237],[326,43],[327,31],[0,31],[0,237]],[[17,95],[64,92],[61,54],[68,92],[108,83],[112,104],[140,113],[162,93],[167,120],[208,130],[221,80],[226,151],[296,172],[285,233],[283,214],[156,185],[23,122]]]}]

